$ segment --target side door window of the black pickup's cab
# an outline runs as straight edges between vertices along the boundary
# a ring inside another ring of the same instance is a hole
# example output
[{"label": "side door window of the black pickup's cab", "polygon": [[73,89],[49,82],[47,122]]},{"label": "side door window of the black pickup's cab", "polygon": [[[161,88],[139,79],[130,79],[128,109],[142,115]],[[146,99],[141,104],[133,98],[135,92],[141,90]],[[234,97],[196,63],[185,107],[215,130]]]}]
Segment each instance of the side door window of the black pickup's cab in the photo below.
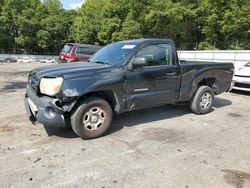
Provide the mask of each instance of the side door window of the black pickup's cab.
[{"label": "side door window of the black pickup's cab", "polygon": [[172,64],[172,51],[169,44],[154,44],[143,47],[136,55],[148,61],[148,66]]}]

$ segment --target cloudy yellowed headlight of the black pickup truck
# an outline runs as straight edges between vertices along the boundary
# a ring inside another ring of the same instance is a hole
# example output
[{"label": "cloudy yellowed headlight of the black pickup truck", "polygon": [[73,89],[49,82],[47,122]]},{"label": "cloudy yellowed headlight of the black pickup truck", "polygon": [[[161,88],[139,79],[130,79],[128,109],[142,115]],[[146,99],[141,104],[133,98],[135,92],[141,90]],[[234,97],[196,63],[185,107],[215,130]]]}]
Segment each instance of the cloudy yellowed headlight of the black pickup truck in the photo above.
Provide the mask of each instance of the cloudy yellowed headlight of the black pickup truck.
[{"label": "cloudy yellowed headlight of the black pickup truck", "polygon": [[63,78],[42,78],[40,82],[40,92],[45,95],[54,96],[60,92]]}]

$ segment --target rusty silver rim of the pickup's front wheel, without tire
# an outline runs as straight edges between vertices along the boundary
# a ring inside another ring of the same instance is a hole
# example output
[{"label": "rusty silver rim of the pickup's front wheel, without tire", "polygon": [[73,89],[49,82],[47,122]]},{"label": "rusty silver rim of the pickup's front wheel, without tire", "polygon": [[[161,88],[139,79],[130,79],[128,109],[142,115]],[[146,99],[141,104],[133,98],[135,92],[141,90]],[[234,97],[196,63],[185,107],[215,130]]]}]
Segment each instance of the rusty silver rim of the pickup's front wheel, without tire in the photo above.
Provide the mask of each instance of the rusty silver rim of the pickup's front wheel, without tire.
[{"label": "rusty silver rim of the pickup's front wheel, without tire", "polygon": [[82,124],[89,131],[96,131],[104,124],[105,111],[95,106],[90,108],[83,115]]}]

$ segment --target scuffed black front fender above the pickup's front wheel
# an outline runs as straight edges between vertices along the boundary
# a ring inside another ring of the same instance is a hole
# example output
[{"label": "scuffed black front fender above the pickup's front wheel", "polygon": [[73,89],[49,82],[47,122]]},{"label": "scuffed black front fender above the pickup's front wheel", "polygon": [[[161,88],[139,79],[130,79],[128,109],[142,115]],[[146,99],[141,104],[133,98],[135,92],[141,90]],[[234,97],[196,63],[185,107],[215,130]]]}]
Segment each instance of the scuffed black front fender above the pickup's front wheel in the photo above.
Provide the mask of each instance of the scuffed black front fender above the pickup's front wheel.
[{"label": "scuffed black front fender above the pickup's front wheel", "polygon": [[111,91],[117,104],[116,112],[120,113],[126,108],[125,73],[117,68],[103,74],[80,76],[64,80],[59,97],[61,100],[69,98],[79,99],[85,95]]}]

